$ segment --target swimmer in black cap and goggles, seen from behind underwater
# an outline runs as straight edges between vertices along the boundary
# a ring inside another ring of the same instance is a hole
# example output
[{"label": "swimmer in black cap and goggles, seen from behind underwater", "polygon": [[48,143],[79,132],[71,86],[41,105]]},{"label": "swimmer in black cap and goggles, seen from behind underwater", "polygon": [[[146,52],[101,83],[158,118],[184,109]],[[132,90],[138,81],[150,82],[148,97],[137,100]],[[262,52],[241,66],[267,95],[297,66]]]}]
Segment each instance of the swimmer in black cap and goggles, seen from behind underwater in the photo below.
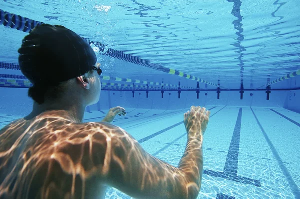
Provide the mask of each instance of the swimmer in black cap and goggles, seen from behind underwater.
[{"label": "swimmer in black cap and goggles, seen from behind underwater", "polygon": [[134,198],[197,198],[209,111],[192,106],[184,114],[187,145],[175,167],[111,124],[126,114],[122,107],[83,122],[99,100],[102,70],[79,35],[43,24],[18,52],[33,110],[0,130],[0,198],[104,198],[107,186]]}]

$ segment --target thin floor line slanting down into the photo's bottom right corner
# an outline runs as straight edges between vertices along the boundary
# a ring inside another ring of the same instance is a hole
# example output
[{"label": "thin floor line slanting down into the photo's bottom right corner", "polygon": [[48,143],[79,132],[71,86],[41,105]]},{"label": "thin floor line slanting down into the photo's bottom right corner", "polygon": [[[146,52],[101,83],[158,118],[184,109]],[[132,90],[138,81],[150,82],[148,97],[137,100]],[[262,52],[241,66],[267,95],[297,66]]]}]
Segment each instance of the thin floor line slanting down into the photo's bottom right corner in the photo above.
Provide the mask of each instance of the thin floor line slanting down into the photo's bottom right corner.
[{"label": "thin floor line slanting down into the photo's bottom right corner", "polygon": [[[250,107],[251,108],[251,107]],[[295,181],[293,180],[292,176],[290,175],[289,171],[287,170],[287,168],[285,167],[285,165],[282,163],[282,159],[280,158],[277,150],[275,149],[274,145],[272,144],[271,140],[269,139],[269,137],[267,136],[265,130],[263,129],[262,125],[260,124],[256,114],[254,113],[253,109],[251,108],[252,113],[257,121],[257,124],[259,125],[261,132],[266,140],[266,142],[268,143],[268,145],[270,146],[270,149],[275,157],[275,159],[277,160],[283,174],[285,175],[287,182],[289,183],[289,186],[292,190],[293,195],[295,196],[295,198],[300,198],[300,189],[297,186],[297,184],[295,183]]]}]

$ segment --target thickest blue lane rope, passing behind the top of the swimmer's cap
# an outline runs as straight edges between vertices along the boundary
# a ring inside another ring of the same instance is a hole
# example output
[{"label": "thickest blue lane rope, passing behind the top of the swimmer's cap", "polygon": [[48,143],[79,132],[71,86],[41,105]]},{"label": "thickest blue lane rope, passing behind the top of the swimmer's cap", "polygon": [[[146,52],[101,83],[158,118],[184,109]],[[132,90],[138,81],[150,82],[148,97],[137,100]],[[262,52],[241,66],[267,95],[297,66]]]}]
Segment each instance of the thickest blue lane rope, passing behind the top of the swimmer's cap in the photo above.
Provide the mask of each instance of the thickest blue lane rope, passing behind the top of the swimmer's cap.
[{"label": "thickest blue lane rope, passing behind the top of the swimmer's cap", "polygon": [[[39,22],[39,21],[35,21],[35,20],[31,20],[29,18],[24,18],[22,16],[16,15],[16,14],[11,14],[8,12],[5,12],[3,10],[0,9],[0,25],[4,25],[5,27],[10,27],[12,29],[17,29],[19,31],[23,31],[23,32],[29,32],[31,29],[33,29],[34,27],[44,24],[43,22]],[[183,77],[186,79],[191,79],[191,80],[195,80],[198,81],[200,83],[204,83],[207,85],[211,85],[211,86],[215,86],[215,87],[220,87],[223,89],[228,89],[225,88],[223,86],[220,86],[216,83],[212,83],[209,81],[206,81],[204,79],[186,74],[184,72],[180,72],[174,69],[170,69],[170,68],[166,68],[163,67],[159,64],[155,64],[155,63],[151,63],[150,60],[147,59],[141,59],[137,56],[133,56],[132,54],[125,54],[125,51],[119,51],[119,50],[114,50],[111,48],[107,48],[107,45],[104,45],[100,42],[94,42],[94,41],[90,41],[88,39],[85,38],[85,40],[91,45],[95,45],[99,52],[101,52],[101,54],[112,57],[112,58],[117,58],[120,60],[124,60],[130,63],[135,63],[138,65],[142,65],[148,68],[152,68],[155,70],[159,70],[168,74],[172,74],[172,75],[177,75],[179,77]],[[229,89],[228,89],[229,90]]]}]

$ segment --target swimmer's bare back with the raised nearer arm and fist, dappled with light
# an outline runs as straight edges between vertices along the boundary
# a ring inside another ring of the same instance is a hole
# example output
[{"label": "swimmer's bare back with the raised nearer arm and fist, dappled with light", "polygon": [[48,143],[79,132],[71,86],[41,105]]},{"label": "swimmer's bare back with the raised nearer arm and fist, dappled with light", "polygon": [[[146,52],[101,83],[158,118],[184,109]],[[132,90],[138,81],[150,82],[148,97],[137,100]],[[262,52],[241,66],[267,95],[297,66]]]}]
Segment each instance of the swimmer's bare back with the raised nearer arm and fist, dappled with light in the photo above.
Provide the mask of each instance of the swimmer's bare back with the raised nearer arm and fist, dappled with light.
[{"label": "swimmer's bare back with the raised nearer arm and fist, dappled with light", "polygon": [[59,111],[0,131],[0,198],[104,198],[112,186],[134,198],[196,198],[210,112],[184,114],[187,146],[178,167],[148,154],[106,122],[72,123]]}]

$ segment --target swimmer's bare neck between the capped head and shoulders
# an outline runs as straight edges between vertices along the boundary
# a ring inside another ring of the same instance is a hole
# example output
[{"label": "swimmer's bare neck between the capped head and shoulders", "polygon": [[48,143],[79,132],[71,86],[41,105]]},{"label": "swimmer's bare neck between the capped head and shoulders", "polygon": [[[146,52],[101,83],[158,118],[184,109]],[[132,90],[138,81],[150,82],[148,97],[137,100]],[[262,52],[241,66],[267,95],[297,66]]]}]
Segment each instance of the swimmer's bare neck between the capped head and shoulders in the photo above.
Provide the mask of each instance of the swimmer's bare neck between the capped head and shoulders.
[{"label": "swimmer's bare neck between the capped head and shoulders", "polygon": [[49,116],[59,116],[75,123],[82,123],[86,106],[80,100],[45,101],[42,104],[33,102],[32,112],[25,119],[32,119],[42,113]]}]

